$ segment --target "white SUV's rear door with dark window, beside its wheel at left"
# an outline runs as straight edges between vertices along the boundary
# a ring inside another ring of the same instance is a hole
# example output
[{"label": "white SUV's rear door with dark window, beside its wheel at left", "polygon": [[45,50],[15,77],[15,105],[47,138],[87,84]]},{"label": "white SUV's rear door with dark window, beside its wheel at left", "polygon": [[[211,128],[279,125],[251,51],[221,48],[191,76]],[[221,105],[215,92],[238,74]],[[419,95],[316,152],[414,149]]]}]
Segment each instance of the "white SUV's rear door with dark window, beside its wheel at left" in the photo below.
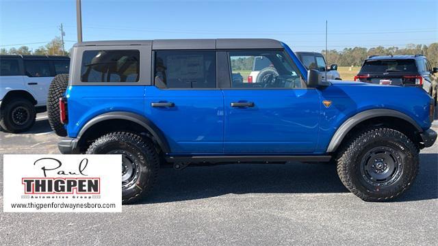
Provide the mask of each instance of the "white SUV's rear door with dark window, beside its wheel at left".
[{"label": "white SUV's rear door with dark window, beside its wheel at left", "polygon": [[25,59],[25,85],[36,96],[37,106],[46,105],[47,93],[53,79],[48,59]]}]

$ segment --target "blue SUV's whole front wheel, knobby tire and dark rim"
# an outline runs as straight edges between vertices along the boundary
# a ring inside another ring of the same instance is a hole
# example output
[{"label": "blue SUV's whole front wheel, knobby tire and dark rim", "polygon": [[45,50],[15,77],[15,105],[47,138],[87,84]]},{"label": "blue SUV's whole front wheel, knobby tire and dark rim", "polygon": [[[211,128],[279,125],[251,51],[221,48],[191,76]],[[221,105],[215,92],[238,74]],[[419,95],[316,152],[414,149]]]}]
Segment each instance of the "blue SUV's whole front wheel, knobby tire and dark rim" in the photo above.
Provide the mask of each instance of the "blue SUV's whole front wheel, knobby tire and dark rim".
[{"label": "blue SUV's whole front wheel, knobby tire and dark rim", "polygon": [[418,171],[418,152],[403,133],[372,128],[353,137],[339,152],[337,174],[364,201],[390,200],[411,186]]}]

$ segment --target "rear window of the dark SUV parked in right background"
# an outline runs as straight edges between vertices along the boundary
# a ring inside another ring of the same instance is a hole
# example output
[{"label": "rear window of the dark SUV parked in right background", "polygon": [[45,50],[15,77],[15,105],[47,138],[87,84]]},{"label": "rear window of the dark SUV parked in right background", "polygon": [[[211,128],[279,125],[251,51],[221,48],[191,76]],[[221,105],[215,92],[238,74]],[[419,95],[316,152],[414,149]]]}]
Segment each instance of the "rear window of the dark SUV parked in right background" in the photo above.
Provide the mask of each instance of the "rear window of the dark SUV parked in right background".
[{"label": "rear window of the dark SUV parked in right background", "polygon": [[417,72],[413,59],[367,60],[361,72]]}]

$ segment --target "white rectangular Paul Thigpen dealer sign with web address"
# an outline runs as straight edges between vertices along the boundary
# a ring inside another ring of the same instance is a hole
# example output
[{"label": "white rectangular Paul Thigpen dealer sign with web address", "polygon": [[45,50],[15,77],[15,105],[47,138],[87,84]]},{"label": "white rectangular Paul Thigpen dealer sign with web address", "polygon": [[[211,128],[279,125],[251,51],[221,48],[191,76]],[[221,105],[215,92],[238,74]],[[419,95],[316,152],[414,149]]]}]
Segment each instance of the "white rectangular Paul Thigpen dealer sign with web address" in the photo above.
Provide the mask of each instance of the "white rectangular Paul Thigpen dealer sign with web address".
[{"label": "white rectangular Paul Thigpen dealer sign with web address", "polygon": [[120,154],[5,154],[3,212],[122,212]]}]

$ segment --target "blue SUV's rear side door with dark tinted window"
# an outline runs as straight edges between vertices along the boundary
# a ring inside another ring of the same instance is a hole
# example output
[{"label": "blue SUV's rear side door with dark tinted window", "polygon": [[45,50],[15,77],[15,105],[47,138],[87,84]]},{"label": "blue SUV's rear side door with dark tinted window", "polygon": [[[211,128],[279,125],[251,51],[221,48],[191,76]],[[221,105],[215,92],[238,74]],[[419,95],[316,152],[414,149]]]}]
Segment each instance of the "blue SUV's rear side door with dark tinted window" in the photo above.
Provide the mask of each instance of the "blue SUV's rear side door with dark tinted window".
[{"label": "blue SUV's rear side door with dark tinted window", "polygon": [[223,153],[224,98],[216,85],[216,51],[155,51],[146,117],[174,154]]}]

